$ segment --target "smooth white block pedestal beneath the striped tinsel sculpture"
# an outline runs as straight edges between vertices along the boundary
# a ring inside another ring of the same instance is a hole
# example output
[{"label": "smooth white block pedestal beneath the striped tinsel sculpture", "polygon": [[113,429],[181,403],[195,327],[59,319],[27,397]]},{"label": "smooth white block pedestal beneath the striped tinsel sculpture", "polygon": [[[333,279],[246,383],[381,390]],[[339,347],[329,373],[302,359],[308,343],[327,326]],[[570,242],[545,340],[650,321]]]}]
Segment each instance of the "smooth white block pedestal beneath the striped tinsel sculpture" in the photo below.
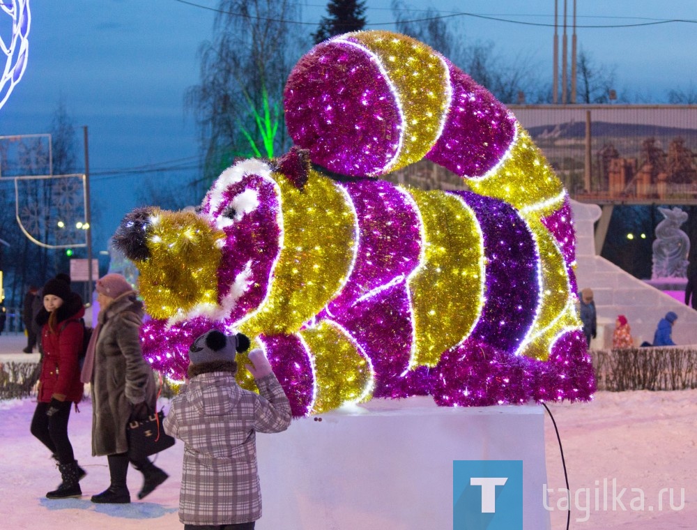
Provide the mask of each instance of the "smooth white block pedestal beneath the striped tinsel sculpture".
[{"label": "smooth white block pedestal beneath the striped tinsel sculpture", "polygon": [[450,530],[453,460],[523,460],[523,529],[549,529],[543,407],[365,407],[257,435],[257,529]]}]

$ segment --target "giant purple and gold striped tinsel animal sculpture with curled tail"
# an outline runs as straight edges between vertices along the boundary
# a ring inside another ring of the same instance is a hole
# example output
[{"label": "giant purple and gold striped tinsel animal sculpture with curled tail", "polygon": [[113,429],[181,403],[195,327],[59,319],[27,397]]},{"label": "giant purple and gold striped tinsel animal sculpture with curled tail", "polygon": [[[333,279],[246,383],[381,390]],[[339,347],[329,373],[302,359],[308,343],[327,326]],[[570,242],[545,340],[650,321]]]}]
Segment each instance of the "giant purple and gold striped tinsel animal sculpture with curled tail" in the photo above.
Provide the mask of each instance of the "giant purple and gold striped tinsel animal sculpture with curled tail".
[{"label": "giant purple and gold striped tinsel animal sculpture with curled tail", "polygon": [[[197,213],[141,209],[116,233],[154,368],[182,379],[216,327],[265,349],[296,416],[592,397],[569,199],[503,105],[426,45],[367,31],[303,56],[284,107],[286,156],[226,169]],[[472,191],[374,178],[422,158]]]}]

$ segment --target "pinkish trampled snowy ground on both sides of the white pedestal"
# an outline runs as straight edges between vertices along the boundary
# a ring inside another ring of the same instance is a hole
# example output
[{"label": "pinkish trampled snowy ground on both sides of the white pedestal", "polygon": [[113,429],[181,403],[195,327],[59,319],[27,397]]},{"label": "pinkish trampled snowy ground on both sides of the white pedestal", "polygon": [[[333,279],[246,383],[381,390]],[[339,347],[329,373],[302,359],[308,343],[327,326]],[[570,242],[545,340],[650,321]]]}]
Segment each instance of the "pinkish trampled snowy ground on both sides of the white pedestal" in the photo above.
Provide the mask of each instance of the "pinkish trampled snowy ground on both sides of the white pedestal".
[{"label": "pinkish trampled snowy ground on both sides of the white pedestal", "polygon": [[[23,340],[20,336],[0,335],[0,362],[33,358],[34,355],[16,353],[24,345]],[[106,458],[89,456],[89,403],[82,404],[81,412],[70,419],[75,453],[88,472],[81,483],[84,497],[63,501],[45,499],[45,493],[60,480],[47,450],[29,434],[35,406],[31,399],[0,402],[1,529],[181,528],[176,513],[181,444],[159,456],[158,466],[171,478],[144,501],[120,506],[95,505],[89,501],[89,495],[104,490],[109,484]],[[601,392],[589,404],[565,403],[550,407],[560,429],[569,474],[572,529],[697,527],[694,522],[697,519],[697,458],[694,456],[697,391]],[[560,488],[565,487],[565,482],[556,434],[549,417],[546,418],[545,439],[548,487],[552,490],[548,501],[548,506],[553,508],[551,528],[562,530],[567,513],[560,509],[565,507]],[[132,497],[139,490],[140,481],[141,475],[131,469],[128,485]],[[673,508],[682,509],[671,508],[671,490]],[[681,490],[684,490],[684,503]],[[542,492],[540,497],[542,499]],[[260,529],[262,526],[258,525]]]}]

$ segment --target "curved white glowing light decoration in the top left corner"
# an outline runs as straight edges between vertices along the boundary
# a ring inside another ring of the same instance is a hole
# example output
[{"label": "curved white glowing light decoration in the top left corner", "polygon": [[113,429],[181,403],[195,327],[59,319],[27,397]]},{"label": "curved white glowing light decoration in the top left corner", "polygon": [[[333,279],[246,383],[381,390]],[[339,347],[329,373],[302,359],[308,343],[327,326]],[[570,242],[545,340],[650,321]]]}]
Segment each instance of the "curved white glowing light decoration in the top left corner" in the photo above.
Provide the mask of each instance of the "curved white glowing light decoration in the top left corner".
[{"label": "curved white glowing light decoration in the top left corner", "polygon": [[[5,64],[0,77],[0,109],[10,97],[15,85],[20,82],[29,57],[29,0],[0,0],[0,10],[10,15],[12,29],[5,40],[6,18],[0,14],[0,51]],[[1,57],[1,56],[0,56]],[[1,63],[2,59],[0,59]]]}]

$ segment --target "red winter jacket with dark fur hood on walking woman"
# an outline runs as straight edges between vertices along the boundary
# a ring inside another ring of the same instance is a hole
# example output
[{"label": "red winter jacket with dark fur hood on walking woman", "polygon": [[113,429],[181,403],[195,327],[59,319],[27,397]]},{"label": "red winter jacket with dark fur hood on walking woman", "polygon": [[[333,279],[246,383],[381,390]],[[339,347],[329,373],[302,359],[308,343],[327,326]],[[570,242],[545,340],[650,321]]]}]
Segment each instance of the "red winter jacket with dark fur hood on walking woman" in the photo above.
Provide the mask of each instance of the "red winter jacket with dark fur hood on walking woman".
[{"label": "red winter jacket with dark fur hood on walking woman", "polygon": [[82,298],[70,293],[70,298],[56,309],[57,324],[54,331],[48,325],[50,313],[42,308],[36,315],[41,326],[43,361],[39,376],[38,401],[48,403],[54,394],[66,396],[66,401],[79,403],[84,386],[80,381],[79,353],[82,349],[82,323],[85,310]]}]

